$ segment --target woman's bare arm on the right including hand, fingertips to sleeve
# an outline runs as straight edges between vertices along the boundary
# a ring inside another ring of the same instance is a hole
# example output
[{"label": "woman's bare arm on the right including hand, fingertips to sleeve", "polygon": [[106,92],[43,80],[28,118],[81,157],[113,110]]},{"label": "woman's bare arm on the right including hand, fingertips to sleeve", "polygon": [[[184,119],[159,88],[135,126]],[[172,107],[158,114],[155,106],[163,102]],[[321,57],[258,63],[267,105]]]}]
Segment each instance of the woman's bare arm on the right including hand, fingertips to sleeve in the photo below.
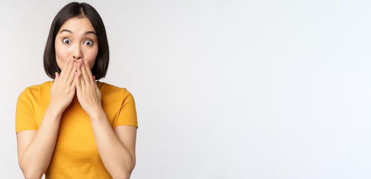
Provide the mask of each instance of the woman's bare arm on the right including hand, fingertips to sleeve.
[{"label": "woman's bare arm on the right including hand, fingertips to sleeve", "polygon": [[125,130],[125,137],[120,136],[120,139],[127,138],[126,134],[131,136],[130,145],[127,145],[129,141],[121,143],[117,138],[101,106],[101,93],[87,60],[78,61],[76,89],[78,101],[89,115],[95,143],[107,171],[113,178],[129,178],[135,166],[135,143],[131,141],[135,141],[136,130]]}]

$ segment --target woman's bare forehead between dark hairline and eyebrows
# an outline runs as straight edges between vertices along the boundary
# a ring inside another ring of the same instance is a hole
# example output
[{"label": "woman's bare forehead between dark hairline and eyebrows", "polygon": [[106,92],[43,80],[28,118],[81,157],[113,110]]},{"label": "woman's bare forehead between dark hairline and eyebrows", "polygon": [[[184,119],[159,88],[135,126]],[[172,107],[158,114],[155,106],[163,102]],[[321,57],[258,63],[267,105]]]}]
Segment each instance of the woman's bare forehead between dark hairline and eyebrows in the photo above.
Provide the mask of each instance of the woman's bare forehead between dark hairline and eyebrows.
[{"label": "woman's bare forehead between dark hairline and eyebrows", "polygon": [[[72,17],[65,21],[65,23],[60,27],[58,33],[63,30],[68,29],[73,33],[84,34],[88,30],[94,31],[94,27],[87,17]],[[64,33],[64,32],[63,32]]]}]

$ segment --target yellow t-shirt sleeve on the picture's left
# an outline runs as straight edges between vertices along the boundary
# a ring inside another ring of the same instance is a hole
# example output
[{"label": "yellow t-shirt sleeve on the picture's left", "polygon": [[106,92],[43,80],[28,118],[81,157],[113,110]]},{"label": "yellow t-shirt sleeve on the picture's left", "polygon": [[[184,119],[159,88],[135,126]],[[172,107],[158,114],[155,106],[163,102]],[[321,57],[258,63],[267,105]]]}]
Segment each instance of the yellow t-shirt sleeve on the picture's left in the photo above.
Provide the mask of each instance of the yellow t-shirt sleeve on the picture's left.
[{"label": "yellow t-shirt sleeve on the picture's left", "polygon": [[30,100],[27,97],[27,89],[19,94],[15,109],[15,133],[22,130],[37,130],[35,115],[30,106]]}]

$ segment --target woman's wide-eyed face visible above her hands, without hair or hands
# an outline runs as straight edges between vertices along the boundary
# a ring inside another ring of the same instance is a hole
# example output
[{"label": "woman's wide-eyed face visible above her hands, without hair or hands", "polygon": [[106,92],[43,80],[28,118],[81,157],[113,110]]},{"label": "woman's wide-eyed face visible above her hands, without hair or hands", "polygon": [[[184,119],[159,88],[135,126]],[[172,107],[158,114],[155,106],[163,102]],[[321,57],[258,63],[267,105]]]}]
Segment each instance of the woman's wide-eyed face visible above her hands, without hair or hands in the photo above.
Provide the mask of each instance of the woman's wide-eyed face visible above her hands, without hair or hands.
[{"label": "woman's wide-eyed face visible above her hands, without hair or hands", "polygon": [[68,59],[87,60],[90,70],[98,54],[98,38],[87,17],[70,18],[60,27],[55,37],[55,58],[60,70],[68,65]]}]

